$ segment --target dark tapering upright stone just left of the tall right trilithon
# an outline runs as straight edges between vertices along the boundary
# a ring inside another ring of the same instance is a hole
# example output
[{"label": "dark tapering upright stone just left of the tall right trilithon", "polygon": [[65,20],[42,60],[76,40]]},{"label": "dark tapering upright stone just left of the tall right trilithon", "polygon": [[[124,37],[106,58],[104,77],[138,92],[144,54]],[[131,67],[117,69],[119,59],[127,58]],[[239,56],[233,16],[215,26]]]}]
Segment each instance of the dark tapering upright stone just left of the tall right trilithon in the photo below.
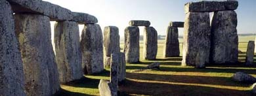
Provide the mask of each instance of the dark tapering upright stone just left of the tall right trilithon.
[{"label": "dark tapering upright stone just left of the tall right trilithon", "polygon": [[169,26],[167,28],[167,35],[165,37],[165,44],[163,45],[163,57],[179,57],[179,31],[177,27]]}]

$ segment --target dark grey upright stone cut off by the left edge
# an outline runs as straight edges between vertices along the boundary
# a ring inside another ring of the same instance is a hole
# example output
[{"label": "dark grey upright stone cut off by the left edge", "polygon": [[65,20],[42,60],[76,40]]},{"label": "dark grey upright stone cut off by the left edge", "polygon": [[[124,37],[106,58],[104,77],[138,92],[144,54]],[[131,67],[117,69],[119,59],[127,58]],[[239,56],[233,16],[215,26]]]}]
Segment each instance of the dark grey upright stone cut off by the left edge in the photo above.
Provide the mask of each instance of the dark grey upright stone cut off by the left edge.
[{"label": "dark grey upright stone cut off by the left edge", "polygon": [[11,5],[0,1],[0,95],[24,96],[24,72]]}]

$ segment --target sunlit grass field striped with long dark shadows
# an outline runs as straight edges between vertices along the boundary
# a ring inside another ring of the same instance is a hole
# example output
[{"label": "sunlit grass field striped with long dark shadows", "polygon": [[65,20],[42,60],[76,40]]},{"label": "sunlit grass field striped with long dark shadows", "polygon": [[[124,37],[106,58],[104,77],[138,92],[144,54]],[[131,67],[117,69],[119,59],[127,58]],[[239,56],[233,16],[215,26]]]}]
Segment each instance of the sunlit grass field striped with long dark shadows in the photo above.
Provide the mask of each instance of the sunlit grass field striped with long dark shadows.
[{"label": "sunlit grass field striped with long dark shadows", "polygon": [[[230,77],[238,71],[256,76],[256,62],[246,66],[245,51],[248,40],[255,36],[239,37],[239,61],[235,65],[211,65],[205,69],[182,67],[182,57],[163,58],[163,42],[158,41],[158,56],[154,61],[142,59],[143,46],[140,44],[140,63],[127,63],[127,80],[119,86],[121,95],[252,95],[251,84],[233,82]],[[180,40],[182,42],[182,39]],[[182,44],[180,44],[182,46]],[[123,43],[121,42],[121,48]],[[182,52],[182,48],[180,48]],[[256,61],[256,57],[254,58]],[[160,62],[160,70],[139,71],[153,62]],[[100,74],[85,75],[81,80],[61,86],[59,95],[99,95],[100,79],[110,79],[110,69]]]}]

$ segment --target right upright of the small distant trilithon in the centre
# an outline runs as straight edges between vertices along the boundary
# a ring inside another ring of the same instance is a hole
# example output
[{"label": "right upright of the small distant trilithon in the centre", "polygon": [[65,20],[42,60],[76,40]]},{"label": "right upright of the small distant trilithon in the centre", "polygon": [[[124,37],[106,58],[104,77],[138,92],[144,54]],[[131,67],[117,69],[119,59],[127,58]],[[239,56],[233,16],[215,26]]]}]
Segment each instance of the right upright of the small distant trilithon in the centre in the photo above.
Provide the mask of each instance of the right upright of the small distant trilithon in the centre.
[{"label": "right upright of the small distant trilithon in the centre", "polygon": [[156,59],[158,53],[158,32],[154,27],[144,28],[144,59]]}]

